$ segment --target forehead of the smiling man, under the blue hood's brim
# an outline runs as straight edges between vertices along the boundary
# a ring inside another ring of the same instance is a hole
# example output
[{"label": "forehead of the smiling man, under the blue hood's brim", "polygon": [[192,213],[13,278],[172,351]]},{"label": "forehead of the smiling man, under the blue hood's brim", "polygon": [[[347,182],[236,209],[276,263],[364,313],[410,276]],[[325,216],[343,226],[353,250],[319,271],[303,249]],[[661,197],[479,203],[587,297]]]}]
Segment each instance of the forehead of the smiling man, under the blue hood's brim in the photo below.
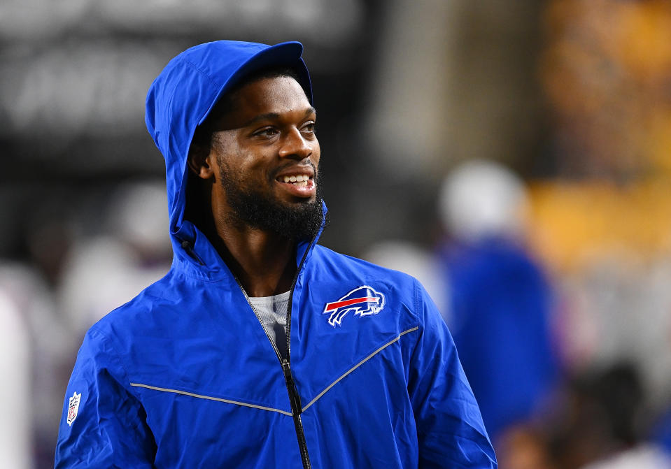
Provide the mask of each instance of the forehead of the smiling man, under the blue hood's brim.
[{"label": "forehead of the smiling man, under the blue hood's brim", "polygon": [[243,127],[262,115],[289,117],[312,109],[301,85],[285,75],[248,82],[227,96],[227,101],[229,105],[218,120],[219,129]]}]

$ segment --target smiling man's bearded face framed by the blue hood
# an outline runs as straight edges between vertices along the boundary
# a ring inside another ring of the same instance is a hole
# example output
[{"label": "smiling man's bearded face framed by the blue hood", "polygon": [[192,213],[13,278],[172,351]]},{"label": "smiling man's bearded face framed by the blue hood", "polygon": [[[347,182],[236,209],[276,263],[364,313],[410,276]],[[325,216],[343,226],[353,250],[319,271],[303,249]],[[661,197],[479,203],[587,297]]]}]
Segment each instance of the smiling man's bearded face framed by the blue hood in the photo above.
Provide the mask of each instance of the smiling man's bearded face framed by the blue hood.
[{"label": "smiling man's bearded face framed by the blue hood", "polygon": [[293,78],[262,78],[235,92],[213,134],[214,215],[289,238],[313,235],[322,218],[315,120]]}]

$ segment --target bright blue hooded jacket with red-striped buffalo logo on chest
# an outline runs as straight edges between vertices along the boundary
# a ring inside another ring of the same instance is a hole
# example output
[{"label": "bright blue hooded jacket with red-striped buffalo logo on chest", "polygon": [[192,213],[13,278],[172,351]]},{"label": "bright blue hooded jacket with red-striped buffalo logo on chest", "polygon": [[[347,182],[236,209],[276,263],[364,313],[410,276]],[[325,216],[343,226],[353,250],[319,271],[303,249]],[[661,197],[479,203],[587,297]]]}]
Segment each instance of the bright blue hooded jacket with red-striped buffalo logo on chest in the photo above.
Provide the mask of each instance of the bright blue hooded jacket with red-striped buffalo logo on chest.
[{"label": "bright blue hooded jacket with red-striped buffalo logo on chest", "polygon": [[408,275],[299,243],[282,363],[246,294],[187,219],[195,127],[240,71],[298,43],[218,41],[148,94],[167,162],[169,273],[92,326],[64,400],[56,468],[495,468],[451,336]]}]

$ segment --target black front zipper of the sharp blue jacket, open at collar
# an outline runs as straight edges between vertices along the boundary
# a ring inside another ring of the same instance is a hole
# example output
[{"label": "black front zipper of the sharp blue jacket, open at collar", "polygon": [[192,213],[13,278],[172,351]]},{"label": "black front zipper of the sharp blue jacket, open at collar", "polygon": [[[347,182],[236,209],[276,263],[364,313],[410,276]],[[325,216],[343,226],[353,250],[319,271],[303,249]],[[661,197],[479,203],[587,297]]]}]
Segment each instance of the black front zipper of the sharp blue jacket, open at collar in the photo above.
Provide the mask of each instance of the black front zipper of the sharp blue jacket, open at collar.
[{"label": "black front zipper of the sharp blue jacket, open at collar", "polygon": [[287,387],[287,392],[289,394],[289,402],[291,405],[291,413],[292,417],[294,419],[294,429],[296,431],[296,438],[298,440],[298,447],[301,453],[301,461],[303,463],[303,469],[311,469],[312,465],[310,463],[310,456],[308,454],[308,447],[307,443],[305,441],[305,432],[303,430],[303,422],[301,420],[301,413],[302,413],[302,405],[301,405],[301,396],[298,394],[298,391],[296,389],[296,384],[294,382],[293,376],[291,374],[291,367],[290,367],[290,360],[291,360],[291,303],[293,300],[294,296],[294,289],[296,287],[296,282],[298,281],[298,275],[303,268],[303,264],[305,262],[305,259],[307,257],[308,252],[310,251],[310,246],[312,243],[314,243],[316,236],[311,240],[310,245],[306,247],[305,252],[303,253],[303,257],[298,264],[298,268],[296,270],[296,275],[294,276],[294,279],[291,282],[291,288],[289,290],[289,301],[287,305],[287,327],[286,327],[286,334],[287,334],[287,357],[285,359],[282,358],[282,355],[280,354],[279,350],[277,349],[277,345],[275,344],[275,341],[268,335],[268,331],[266,331],[266,328],[263,327],[263,324],[261,322],[261,317],[259,316],[258,312],[255,310],[254,306],[252,305],[251,301],[249,301],[249,296],[247,295],[247,292],[243,288],[242,284],[238,280],[238,277],[233,275],[236,283],[238,284],[238,287],[242,290],[242,293],[245,296],[245,299],[247,300],[248,305],[250,305],[250,308],[252,308],[252,311],[254,312],[254,315],[256,316],[256,319],[258,319],[259,324],[263,327],[264,332],[266,333],[266,337],[268,340],[270,340],[270,344],[273,346],[273,349],[275,350],[275,354],[277,355],[277,359],[279,360],[281,366],[282,366],[282,373],[284,375],[284,381]]}]

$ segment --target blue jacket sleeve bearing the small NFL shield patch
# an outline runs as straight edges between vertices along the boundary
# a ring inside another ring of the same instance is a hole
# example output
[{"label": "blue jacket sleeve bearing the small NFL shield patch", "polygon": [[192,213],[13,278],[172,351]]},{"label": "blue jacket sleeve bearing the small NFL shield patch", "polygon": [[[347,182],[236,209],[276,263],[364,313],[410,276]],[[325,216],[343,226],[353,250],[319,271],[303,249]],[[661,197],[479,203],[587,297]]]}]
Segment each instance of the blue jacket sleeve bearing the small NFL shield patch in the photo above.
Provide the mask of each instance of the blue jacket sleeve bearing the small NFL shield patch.
[{"label": "blue jacket sleeve bearing the small NFL shield patch", "polygon": [[129,389],[110,342],[89,331],[66,391],[55,469],[153,467],[153,435]]}]

